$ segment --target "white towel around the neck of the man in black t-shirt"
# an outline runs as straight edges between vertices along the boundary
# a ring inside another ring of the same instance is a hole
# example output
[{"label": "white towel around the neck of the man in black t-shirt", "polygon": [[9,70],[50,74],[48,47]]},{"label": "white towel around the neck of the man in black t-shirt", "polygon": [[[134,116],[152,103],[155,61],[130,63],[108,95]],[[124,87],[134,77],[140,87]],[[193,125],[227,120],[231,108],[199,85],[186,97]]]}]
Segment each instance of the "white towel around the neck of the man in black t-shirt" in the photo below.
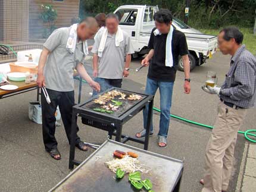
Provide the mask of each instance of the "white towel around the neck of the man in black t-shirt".
[{"label": "white towel around the neck of the man in black t-shirt", "polygon": [[[154,35],[161,35],[158,29],[154,30]],[[171,51],[171,40],[173,40],[173,26],[170,27],[170,31],[166,39],[166,67],[173,67],[173,52]]]}]

